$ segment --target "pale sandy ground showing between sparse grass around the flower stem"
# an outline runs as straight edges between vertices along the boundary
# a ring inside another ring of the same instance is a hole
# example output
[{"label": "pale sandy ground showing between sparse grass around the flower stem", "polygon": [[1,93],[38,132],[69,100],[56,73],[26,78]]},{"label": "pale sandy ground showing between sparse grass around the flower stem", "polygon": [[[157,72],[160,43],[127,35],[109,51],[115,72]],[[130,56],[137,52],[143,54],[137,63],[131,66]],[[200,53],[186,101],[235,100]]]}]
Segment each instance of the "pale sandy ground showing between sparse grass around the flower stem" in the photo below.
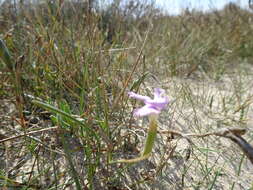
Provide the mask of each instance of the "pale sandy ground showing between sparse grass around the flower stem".
[{"label": "pale sandy ground showing between sparse grass around the flower stem", "polygon": [[[166,90],[170,98],[168,108],[159,118],[159,130],[176,130],[182,133],[198,133],[215,131],[222,127],[242,127],[248,132],[245,139],[253,145],[253,72],[248,74],[225,76],[214,82],[208,78],[205,81],[196,79],[170,78],[160,80],[160,83],[150,80],[141,89],[142,94],[152,95],[152,89],[160,86]],[[13,136],[13,130],[20,126],[13,121],[16,114],[12,101],[0,100],[0,134],[1,138]],[[243,109],[242,109],[243,107]],[[138,151],[119,151],[119,158],[136,157],[142,150],[146,137],[147,119],[134,119],[135,127],[124,129],[131,132],[138,143],[134,144]],[[39,125],[46,125],[37,121]],[[43,122],[43,121],[42,121]],[[124,128],[124,126],[121,126]],[[46,137],[48,136],[48,138]],[[37,138],[42,138],[37,135]],[[48,144],[58,146],[57,137],[46,133],[43,139]],[[135,140],[136,141],[136,140]],[[94,178],[94,189],[253,189],[253,165],[247,160],[239,147],[229,139],[216,136],[191,138],[189,143],[184,138],[159,134],[152,157],[133,165],[114,164],[105,171],[101,160],[101,168]],[[23,142],[23,141],[22,141]],[[24,142],[23,142],[24,143]],[[69,139],[73,147],[81,146],[78,140]],[[131,142],[129,142],[129,146]],[[32,147],[31,147],[32,148]],[[38,148],[38,147],[37,147]],[[36,151],[36,150],[35,150]],[[15,181],[22,183],[28,179],[30,171],[33,175],[39,170],[39,164],[31,154],[27,154],[25,146],[19,139],[0,146],[0,169],[16,176]],[[60,183],[67,183],[70,176],[66,171],[66,159],[60,154],[52,157],[52,152],[40,151],[44,157],[44,168],[53,170],[56,165],[62,178]],[[81,174],[85,175],[83,152],[77,150],[73,155]],[[52,159],[53,158],[53,159]],[[117,169],[121,167],[122,176]],[[117,169],[116,169],[117,168]],[[52,180],[52,172],[39,177],[43,183]],[[109,187],[102,182],[105,176],[115,176],[115,181]],[[0,181],[0,184],[3,181]],[[71,189],[71,186],[66,189]]]}]

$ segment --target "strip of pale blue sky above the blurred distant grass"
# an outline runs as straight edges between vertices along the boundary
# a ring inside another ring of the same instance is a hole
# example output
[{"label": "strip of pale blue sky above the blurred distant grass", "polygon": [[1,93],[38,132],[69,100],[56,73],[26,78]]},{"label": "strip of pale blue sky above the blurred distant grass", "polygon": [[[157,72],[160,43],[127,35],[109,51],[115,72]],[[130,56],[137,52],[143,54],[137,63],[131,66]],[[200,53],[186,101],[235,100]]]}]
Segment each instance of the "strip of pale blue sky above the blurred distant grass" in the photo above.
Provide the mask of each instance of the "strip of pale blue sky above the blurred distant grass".
[{"label": "strip of pale blue sky above the blurred distant grass", "polygon": [[170,14],[178,14],[186,7],[207,11],[210,9],[222,9],[229,2],[247,7],[248,0],[154,0],[155,3]]}]

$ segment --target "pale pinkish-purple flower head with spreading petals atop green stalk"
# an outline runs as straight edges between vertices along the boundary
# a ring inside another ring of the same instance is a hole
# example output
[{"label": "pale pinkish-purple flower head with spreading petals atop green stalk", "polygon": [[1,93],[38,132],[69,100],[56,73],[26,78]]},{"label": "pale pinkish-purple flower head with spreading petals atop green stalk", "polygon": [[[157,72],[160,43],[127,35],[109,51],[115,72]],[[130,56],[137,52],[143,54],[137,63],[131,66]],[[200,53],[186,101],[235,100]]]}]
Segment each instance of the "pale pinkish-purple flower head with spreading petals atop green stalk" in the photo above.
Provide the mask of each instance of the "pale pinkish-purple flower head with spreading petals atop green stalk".
[{"label": "pale pinkish-purple flower head with spreading petals atop green stalk", "polygon": [[154,99],[151,99],[148,96],[142,96],[134,92],[129,92],[128,95],[130,98],[135,98],[145,103],[143,107],[134,110],[134,116],[143,117],[151,114],[158,115],[169,102],[168,98],[166,96],[163,96],[164,93],[165,90],[161,88],[155,88]]}]

